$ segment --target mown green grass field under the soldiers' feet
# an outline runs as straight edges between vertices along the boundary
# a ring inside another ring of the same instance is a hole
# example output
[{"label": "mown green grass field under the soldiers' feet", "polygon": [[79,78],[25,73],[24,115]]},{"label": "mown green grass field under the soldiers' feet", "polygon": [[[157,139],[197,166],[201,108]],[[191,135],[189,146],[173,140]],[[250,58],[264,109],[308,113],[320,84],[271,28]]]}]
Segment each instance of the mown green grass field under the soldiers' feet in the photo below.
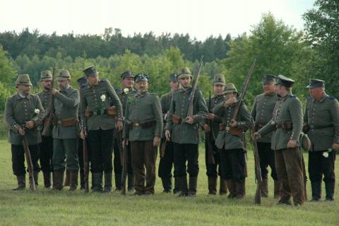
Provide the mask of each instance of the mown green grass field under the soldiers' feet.
[{"label": "mown green grass field under the soldiers' feet", "polygon": [[[0,225],[339,225],[338,198],[332,203],[305,203],[300,208],[277,206],[276,199],[263,198],[261,206],[254,206],[252,155],[248,153],[246,198],[241,201],[207,196],[202,149],[196,198],[162,194],[159,178],[154,196],[55,192],[41,186],[37,192],[11,191],[16,177],[11,169],[10,145],[0,141]],[[304,156],[307,160],[307,153]],[[336,172],[338,175],[338,167]],[[42,184],[41,175],[39,183]],[[270,180],[270,197],[272,191]],[[309,196],[310,192],[308,183]]]}]

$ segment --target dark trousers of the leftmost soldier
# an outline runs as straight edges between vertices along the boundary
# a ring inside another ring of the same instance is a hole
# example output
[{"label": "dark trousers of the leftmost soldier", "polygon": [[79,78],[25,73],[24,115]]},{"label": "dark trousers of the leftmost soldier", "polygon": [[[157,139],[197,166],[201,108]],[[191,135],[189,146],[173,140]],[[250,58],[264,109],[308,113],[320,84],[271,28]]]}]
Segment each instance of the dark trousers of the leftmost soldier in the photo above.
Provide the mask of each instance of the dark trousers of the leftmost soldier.
[{"label": "dark trousers of the leftmost soldier", "polygon": [[[33,171],[40,172],[39,163],[37,163],[39,159],[39,145],[28,145],[28,149],[30,149],[30,158],[32,160]],[[11,145],[12,152],[12,169],[13,174],[16,176],[25,175],[25,150],[23,149],[23,145]]]}]

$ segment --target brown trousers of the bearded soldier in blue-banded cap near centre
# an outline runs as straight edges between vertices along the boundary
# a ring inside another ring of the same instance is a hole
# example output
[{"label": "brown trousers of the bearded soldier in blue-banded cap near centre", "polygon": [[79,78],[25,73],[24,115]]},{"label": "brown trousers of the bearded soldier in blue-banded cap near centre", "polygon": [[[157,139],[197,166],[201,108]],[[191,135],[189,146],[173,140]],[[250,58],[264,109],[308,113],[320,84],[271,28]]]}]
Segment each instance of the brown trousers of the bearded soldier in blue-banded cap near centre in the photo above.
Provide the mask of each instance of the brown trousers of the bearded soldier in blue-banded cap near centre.
[{"label": "brown trousers of the bearded soldier in blue-banded cap near centre", "polygon": [[153,141],[130,141],[136,194],[154,194],[157,147]]}]

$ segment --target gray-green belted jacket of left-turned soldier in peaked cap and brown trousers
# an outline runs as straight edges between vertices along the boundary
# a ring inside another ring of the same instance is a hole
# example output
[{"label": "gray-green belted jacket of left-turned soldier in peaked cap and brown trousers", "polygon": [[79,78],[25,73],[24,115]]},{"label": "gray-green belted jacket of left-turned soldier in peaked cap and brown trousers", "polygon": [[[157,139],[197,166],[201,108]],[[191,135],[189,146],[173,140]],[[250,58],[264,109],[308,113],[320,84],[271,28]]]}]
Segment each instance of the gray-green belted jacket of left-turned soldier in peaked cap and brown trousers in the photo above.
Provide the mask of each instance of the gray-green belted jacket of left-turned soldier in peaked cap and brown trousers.
[{"label": "gray-green belted jacket of left-turned soldier in peaked cap and brown trousers", "polygon": [[[292,130],[275,129],[276,125],[284,121],[292,121]],[[258,133],[260,136],[266,136],[271,131],[273,131],[271,141],[273,150],[287,149],[287,143],[290,140],[297,141],[299,145],[299,136],[302,132],[302,102],[297,96],[290,93],[279,98],[273,109],[273,118]]]}]

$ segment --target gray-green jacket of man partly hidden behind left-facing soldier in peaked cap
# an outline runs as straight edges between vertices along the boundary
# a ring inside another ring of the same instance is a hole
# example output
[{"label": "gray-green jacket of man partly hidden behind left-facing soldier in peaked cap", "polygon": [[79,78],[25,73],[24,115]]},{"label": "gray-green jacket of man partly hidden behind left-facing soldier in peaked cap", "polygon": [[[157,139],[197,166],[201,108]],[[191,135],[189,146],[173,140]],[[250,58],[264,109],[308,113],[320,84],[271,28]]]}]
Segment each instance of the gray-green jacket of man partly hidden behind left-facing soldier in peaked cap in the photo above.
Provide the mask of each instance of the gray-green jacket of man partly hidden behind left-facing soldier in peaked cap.
[{"label": "gray-green jacket of man partly hidden behind left-facing soldier in peaked cap", "polygon": [[[256,96],[251,110],[251,115],[257,126],[263,127],[268,123],[268,121],[270,121],[270,119],[272,119],[273,109],[277,101],[278,95],[276,94],[266,95],[265,93],[262,93],[261,95]],[[270,143],[271,138],[272,133],[268,133],[266,136],[258,139],[258,142]]]}]

